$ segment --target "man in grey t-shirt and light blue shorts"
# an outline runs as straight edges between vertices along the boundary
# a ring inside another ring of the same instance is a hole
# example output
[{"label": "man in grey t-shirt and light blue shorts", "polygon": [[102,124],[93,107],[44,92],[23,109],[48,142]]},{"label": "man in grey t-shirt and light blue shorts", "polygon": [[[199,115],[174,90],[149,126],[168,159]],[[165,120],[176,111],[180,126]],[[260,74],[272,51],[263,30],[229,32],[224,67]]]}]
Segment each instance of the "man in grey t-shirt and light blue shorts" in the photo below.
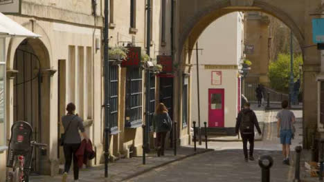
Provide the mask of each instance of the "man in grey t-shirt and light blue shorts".
[{"label": "man in grey t-shirt and light blue shorts", "polygon": [[289,165],[290,145],[291,138],[294,135],[295,115],[294,112],[287,110],[288,101],[282,101],[281,106],[282,110],[277,114],[277,135],[282,144],[282,154],[284,156],[282,163]]}]

